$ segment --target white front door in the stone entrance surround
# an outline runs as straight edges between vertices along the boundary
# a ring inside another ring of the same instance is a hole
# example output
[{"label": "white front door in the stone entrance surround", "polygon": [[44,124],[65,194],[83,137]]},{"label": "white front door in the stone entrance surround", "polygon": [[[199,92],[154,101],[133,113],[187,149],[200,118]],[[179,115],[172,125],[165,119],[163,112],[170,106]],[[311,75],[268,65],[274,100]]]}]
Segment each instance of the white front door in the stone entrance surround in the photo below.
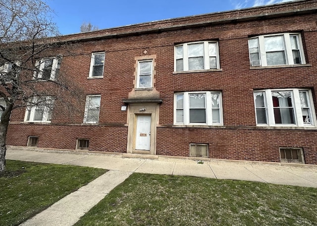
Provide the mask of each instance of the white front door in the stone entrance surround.
[{"label": "white front door in the stone entrance surround", "polygon": [[151,115],[137,115],[137,128],[135,138],[136,150],[150,150],[151,141]]}]

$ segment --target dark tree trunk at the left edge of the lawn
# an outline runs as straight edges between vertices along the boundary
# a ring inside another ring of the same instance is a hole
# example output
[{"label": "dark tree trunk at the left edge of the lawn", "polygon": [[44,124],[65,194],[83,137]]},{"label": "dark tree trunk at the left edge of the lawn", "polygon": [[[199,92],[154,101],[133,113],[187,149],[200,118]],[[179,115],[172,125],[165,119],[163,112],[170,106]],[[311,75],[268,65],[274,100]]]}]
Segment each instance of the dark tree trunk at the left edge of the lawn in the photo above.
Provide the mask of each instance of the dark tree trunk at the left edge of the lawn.
[{"label": "dark tree trunk at the left edge of the lawn", "polygon": [[7,109],[1,115],[0,121],[0,173],[5,170],[5,153],[6,153],[6,132],[8,130],[9,119],[12,106],[7,106]]}]

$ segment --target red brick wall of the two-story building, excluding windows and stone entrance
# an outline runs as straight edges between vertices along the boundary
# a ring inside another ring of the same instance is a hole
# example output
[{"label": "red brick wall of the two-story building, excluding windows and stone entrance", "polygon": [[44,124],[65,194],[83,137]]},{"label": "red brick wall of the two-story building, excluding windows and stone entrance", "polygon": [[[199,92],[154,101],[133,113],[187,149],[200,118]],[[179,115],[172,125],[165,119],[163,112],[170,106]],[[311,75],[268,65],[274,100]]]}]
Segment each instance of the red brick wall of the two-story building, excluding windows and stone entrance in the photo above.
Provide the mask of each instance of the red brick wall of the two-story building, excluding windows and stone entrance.
[{"label": "red brick wall of the two-story building, excluding windows and stone entrance", "polygon": [[[317,7],[317,0],[152,22],[65,39],[310,7]],[[284,32],[302,33],[305,58],[311,66],[251,70],[248,38]],[[317,164],[317,130],[257,128],[253,98],[254,89],[311,88],[317,109],[316,37],[316,13],[312,13],[78,42],[71,54],[63,56],[61,72],[82,87],[85,95],[101,95],[100,125],[81,125],[84,103],[70,117],[54,109],[52,123],[48,125],[18,124],[23,121],[25,110],[15,110],[11,116],[11,122],[15,123],[9,125],[7,144],[25,146],[28,136],[38,135],[39,147],[74,149],[77,138],[88,138],[90,150],[126,152],[127,112],[120,111],[122,99],[127,99],[134,87],[135,56],[142,56],[147,50],[148,55],[157,56],[155,88],[163,100],[159,109],[157,154],[189,156],[189,143],[208,143],[210,158],[279,162],[279,147],[302,147],[306,163]],[[205,40],[219,41],[222,71],[173,74],[175,43]],[[91,53],[98,51],[106,52],[104,78],[87,79]],[[174,92],[204,90],[222,92],[224,126],[173,128]]]}]

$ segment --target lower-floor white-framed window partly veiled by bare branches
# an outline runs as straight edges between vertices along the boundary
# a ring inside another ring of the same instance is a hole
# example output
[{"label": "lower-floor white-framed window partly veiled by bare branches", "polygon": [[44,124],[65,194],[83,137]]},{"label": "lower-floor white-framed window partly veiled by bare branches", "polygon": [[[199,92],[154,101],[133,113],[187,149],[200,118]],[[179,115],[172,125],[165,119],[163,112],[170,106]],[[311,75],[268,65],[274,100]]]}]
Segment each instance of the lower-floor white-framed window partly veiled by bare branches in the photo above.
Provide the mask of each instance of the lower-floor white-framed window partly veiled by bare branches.
[{"label": "lower-floor white-framed window partly veiled by bare branches", "polygon": [[53,100],[51,97],[34,97],[26,108],[24,121],[51,122]]}]

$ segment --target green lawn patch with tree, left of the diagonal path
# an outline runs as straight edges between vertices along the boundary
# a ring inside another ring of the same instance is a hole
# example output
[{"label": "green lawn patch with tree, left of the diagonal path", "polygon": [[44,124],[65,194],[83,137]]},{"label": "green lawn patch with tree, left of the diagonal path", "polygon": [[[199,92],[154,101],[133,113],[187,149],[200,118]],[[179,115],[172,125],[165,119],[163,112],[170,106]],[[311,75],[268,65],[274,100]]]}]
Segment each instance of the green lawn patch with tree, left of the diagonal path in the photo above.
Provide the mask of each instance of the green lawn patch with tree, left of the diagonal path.
[{"label": "green lawn patch with tree, left of the diagonal path", "polygon": [[6,163],[6,172],[0,174],[0,226],[19,225],[106,172],[13,160]]}]

